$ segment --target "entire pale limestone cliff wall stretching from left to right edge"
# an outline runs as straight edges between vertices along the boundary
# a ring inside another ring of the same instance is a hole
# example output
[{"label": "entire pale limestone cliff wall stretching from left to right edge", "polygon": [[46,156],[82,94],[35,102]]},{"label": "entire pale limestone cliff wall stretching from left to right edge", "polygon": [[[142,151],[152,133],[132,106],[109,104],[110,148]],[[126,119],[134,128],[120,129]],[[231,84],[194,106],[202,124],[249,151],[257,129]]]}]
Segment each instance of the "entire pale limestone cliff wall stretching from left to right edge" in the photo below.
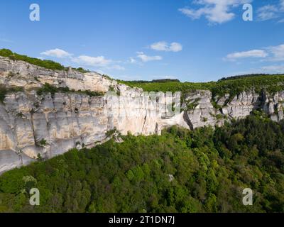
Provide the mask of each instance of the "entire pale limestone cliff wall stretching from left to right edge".
[{"label": "entire pale limestone cliff wall stretching from left to right edge", "polygon": [[[72,92],[37,94],[45,83]],[[95,72],[46,70],[5,57],[0,57],[0,84],[23,87],[0,104],[0,173],[71,148],[93,147],[108,140],[110,131],[151,135],[175,125],[221,126],[253,109],[263,109],[273,121],[283,119],[284,92],[214,97],[213,105],[211,92],[199,90],[187,94],[180,106],[179,93],[148,94]],[[107,93],[88,96],[80,90]]]}]

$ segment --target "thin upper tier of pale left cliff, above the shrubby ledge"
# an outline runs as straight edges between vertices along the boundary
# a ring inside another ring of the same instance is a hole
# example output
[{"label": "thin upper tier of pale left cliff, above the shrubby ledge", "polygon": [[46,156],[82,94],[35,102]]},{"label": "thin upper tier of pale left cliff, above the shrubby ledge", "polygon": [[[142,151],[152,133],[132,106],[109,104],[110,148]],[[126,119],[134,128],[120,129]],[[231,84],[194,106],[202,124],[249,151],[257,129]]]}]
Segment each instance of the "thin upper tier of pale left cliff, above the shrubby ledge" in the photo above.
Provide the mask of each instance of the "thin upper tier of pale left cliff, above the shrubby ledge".
[{"label": "thin upper tier of pale left cliff, above the shrubby ledge", "polygon": [[69,87],[75,91],[100,92],[107,92],[110,86],[117,84],[115,80],[107,79],[96,72],[83,74],[75,70],[47,70],[27,62],[12,61],[6,57],[0,57],[0,84],[33,89],[41,87],[45,83],[55,87]]}]

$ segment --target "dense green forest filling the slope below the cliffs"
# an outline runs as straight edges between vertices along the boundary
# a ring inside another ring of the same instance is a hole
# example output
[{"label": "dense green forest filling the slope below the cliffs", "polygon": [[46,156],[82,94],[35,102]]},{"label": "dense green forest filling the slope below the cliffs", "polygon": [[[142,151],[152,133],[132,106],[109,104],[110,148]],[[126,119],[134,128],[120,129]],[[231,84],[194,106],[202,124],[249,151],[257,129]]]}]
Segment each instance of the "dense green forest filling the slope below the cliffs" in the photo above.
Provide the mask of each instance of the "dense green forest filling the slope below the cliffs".
[{"label": "dense green forest filling the slope below the cliffs", "polygon": [[[254,111],[215,129],[120,136],[5,172],[0,211],[284,212],[284,122]],[[33,187],[40,206],[28,203]]]}]

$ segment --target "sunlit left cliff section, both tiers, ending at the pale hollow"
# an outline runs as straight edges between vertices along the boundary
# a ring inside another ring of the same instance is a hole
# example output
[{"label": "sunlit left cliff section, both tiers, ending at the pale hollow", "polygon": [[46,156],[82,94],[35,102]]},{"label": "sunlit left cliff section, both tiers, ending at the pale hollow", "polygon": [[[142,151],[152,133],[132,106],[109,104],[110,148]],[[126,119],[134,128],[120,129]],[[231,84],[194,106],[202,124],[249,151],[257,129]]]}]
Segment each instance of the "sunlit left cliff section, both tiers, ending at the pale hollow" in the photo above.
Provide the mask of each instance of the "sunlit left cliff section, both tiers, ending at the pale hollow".
[{"label": "sunlit left cliff section, both tiers, ending at the pale hollow", "polygon": [[[43,84],[75,91],[108,92],[120,96],[88,96],[78,92],[38,95]],[[166,98],[152,99],[100,74],[46,70],[26,62],[0,57],[0,84],[23,87],[6,94],[0,104],[0,173],[26,165],[38,157],[50,158],[71,148],[93,147],[107,140],[107,131],[121,134],[160,133]],[[185,125],[185,124],[184,124]]]}]

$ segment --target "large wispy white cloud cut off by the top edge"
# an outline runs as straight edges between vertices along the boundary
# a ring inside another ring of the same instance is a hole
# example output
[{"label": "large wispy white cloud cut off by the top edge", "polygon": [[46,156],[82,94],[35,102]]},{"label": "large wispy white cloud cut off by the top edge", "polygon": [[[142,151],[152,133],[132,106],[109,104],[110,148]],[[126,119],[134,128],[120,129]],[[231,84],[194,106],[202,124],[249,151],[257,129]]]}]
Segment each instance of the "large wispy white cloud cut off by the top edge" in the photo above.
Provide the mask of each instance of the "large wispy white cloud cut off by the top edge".
[{"label": "large wispy white cloud cut off by the top edge", "polygon": [[235,14],[232,8],[241,4],[250,3],[252,0],[195,0],[199,9],[182,8],[179,11],[193,20],[205,16],[210,23],[224,23],[231,21]]}]

